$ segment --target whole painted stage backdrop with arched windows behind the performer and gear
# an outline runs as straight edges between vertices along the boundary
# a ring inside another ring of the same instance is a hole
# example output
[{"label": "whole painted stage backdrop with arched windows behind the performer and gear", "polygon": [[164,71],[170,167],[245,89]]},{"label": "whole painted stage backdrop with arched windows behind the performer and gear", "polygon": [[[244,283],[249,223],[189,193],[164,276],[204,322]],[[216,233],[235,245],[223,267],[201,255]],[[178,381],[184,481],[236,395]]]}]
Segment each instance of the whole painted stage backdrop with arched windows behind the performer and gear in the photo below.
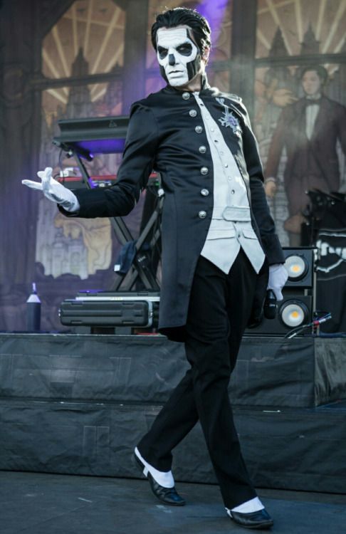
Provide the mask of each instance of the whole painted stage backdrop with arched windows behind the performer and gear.
[{"label": "whole painted stage backdrop with arched windows behind the performer and gear", "polygon": [[[107,219],[65,219],[20,181],[46,166],[56,176],[80,174],[76,162],[51,142],[58,120],[127,115],[133,100],[163,86],[150,26],[157,12],[179,1],[27,4],[18,0],[14,9],[3,0],[0,7],[0,329],[25,329],[25,301],[36,281],[43,330],[64,330],[61,301],[80,289],[110,288],[120,245]],[[209,82],[243,95],[281,242],[298,245],[309,200],[305,190],[346,192],[346,0],[181,5],[196,7],[211,23]],[[252,28],[243,41],[242,25],[247,32]],[[120,155],[97,155],[88,172],[106,179],[120,161]],[[135,237],[144,196],[126,221]]]}]

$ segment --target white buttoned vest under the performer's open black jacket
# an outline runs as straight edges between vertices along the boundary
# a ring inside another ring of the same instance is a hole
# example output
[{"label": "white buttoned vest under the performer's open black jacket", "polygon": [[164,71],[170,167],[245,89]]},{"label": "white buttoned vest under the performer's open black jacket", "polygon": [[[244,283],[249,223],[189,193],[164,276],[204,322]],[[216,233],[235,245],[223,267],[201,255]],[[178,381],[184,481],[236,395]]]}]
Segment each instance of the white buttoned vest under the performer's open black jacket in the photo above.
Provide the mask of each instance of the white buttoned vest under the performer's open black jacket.
[{"label": "white buttoned vest under the performer's open black jacket", "polygon": [[214,166],[214,209],[201,256],[228,274],[240,248],[258,273],[265,254],[251,225],[246,185],[219,125],[194,93],[209,142]]}]

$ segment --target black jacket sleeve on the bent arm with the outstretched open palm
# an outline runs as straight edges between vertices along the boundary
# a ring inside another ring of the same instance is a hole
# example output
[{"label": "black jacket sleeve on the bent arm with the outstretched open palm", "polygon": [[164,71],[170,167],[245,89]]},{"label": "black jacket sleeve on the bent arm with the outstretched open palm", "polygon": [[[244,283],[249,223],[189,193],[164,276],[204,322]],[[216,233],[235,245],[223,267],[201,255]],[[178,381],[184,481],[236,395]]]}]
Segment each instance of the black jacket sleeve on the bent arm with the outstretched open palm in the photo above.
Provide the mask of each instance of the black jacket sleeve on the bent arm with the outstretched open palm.
[{"label": "black jacket sleeve on the bent arm with the outstretched open palm", "polygon": [[152,172],[158,137],[152,110],[141,103],[132,105],[116,184],[108,188],[74,191],[80,204],[79,211],[69,214],[59,206],[61,213],[87,219],[129,214]]}]

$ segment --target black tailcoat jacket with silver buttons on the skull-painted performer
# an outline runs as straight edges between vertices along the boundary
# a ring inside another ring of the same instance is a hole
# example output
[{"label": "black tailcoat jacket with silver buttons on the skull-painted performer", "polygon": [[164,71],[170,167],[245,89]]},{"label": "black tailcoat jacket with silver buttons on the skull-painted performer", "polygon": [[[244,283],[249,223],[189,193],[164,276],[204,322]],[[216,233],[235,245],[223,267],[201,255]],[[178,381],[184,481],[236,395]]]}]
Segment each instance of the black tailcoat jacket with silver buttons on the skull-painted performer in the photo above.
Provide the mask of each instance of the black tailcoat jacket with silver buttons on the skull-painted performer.
[{"label": "black tailcoat jacket with silver buttons on the skull-painted performer", "polygon": [[[236,133],[222,125],[220,130],[246,184],[253,229],[268,263],[282,263],[285,260],[268,210],[258,146],[246,108],[236,95],[220,93],[207,85],[199,96],[218,124],[226,105],[240,126]],[[224,105],[216,98],[224,98]],[[190,114],[191,110],[194,112]],[[208,174],[201,174],[201,167],[207,167]],[[75,216],[127,215],[152,169],[161,174],[165,194],[159,331],[172,340],[182,341],[196,262],[213,213],[213,162],[201,112],[192,93],[167,86],[132,105],[117,183],[108,189],[75,191],[80,203]],[[202,189],[209,194],[202,194]],[[200,211],[206,212],[204,218]]]}]

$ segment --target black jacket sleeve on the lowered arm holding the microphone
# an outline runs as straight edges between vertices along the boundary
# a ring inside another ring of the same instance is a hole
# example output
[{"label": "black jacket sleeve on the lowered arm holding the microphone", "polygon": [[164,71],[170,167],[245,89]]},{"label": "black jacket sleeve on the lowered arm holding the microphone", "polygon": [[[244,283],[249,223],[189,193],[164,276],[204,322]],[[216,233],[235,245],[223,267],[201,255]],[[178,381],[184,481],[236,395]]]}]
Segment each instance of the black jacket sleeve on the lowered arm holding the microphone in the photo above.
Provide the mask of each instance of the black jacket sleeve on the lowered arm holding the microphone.
[{"label": "black jacket sleeve on the lowered arm holding the microphone", "polygon": [[250,180],[251,208],[261,236],[264,252],[269,265],[284,263],[285,257],[280,241],[276,235],[275,224],[269,211],[266,194],[263,188],[263,168],[258,151],[256,137],[251,130],[250,120],[246,108],[242,105],[244,117],[243,153],[246,169]]}]

